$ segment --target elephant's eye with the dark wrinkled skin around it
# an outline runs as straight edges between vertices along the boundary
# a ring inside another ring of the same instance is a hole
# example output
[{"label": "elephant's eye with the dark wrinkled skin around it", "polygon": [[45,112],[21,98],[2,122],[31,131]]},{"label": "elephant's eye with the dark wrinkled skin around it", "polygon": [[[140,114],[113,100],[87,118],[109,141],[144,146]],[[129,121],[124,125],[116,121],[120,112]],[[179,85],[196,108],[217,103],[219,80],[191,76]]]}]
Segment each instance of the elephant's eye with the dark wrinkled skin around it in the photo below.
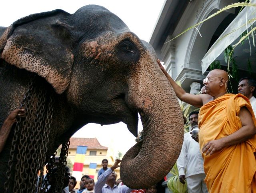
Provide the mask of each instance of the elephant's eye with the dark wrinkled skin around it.
[{"label": "elephant's eye with the dark wrinkled skin around it", "polygon": [[117,56],[124,63],[138,60],[140,53],[130,40],[122,41],[117,47]]}]

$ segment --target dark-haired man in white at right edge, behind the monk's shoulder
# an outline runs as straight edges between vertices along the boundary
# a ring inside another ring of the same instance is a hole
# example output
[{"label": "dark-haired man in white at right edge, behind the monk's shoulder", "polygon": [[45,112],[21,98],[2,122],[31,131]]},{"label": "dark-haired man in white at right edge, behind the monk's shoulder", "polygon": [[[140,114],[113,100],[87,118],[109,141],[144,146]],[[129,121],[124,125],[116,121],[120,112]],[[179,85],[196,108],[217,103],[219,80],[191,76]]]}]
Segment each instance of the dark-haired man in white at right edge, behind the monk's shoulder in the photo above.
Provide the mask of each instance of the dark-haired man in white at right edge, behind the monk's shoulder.
[{"label": "dark-haired man in white at right edge, behind the monk's shoulder", "polygon": [[246,96],[252,105],[252,110],[256,116],[256,98],[255,94],[256,81],[248,77],[241,78],[238,82],[238,92]]}]

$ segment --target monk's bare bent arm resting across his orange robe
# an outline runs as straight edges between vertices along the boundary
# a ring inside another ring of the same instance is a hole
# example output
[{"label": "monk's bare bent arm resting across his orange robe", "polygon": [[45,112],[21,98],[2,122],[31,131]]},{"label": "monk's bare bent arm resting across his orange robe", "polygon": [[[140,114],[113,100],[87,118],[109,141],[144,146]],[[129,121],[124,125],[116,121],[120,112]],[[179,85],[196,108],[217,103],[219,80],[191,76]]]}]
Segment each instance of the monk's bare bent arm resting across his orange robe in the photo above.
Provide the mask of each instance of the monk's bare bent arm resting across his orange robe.
[{"label": "monk's bare bent arm resting across his orange robe", "polygon": [[240,129],[221,139],[209,141],[204,145],[202,152],[206,153],[206,155],[209,153],[212,155],[214,152],[219,151],[224,147],[235,145],[252,138],[256,134],[256,127],[252,120],[251,113],[246,107],[242,107],[238,117],[240,117],[240,121],[242,123],[242,127]]}]

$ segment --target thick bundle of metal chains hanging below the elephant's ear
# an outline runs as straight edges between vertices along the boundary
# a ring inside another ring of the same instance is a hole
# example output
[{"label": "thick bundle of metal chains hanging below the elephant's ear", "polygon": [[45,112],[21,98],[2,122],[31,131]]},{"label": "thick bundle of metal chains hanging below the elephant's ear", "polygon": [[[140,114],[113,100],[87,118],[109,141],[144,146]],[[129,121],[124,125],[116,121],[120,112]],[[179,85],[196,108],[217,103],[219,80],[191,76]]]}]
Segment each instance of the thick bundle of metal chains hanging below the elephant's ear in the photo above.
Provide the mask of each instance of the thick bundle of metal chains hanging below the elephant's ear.
[{"label": "thick bundle of metal chains hanging below the elephant's ear", "polygon": [[[7,180],[4,184],[6,192],[10,191],[9,187],[12,192],[36,192],[38,171],[44,169],[54,100],[53,92],[46,92],[45,86],[39,82],[42,81],[36,81],[36,76],[32,77],[20,103],[20,107],[26,110],[26,118],[18,117],[14,128]],[[12,176],[14,169],[15,175]],[[14,182],[11,180],[13,177]]]}]

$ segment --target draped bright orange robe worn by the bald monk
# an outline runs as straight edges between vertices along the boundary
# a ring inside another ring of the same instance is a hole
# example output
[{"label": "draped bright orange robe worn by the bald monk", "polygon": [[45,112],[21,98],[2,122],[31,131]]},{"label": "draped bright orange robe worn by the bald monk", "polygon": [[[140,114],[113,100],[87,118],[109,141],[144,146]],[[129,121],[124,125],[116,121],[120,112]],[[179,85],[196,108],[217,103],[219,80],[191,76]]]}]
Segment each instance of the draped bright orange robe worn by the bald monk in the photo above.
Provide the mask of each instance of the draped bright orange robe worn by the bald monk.
[{"label": "draped bright orange robe worn by the bald monk", "polygon": [[[250,101],[241,94],[225,94],[200,108],[199,145],[226,137],[242,127],[238,114],[242,107],[256,120]],[[210,193],[256,193],[256,135],[212,154],[202,154],[207,189]]]}]

